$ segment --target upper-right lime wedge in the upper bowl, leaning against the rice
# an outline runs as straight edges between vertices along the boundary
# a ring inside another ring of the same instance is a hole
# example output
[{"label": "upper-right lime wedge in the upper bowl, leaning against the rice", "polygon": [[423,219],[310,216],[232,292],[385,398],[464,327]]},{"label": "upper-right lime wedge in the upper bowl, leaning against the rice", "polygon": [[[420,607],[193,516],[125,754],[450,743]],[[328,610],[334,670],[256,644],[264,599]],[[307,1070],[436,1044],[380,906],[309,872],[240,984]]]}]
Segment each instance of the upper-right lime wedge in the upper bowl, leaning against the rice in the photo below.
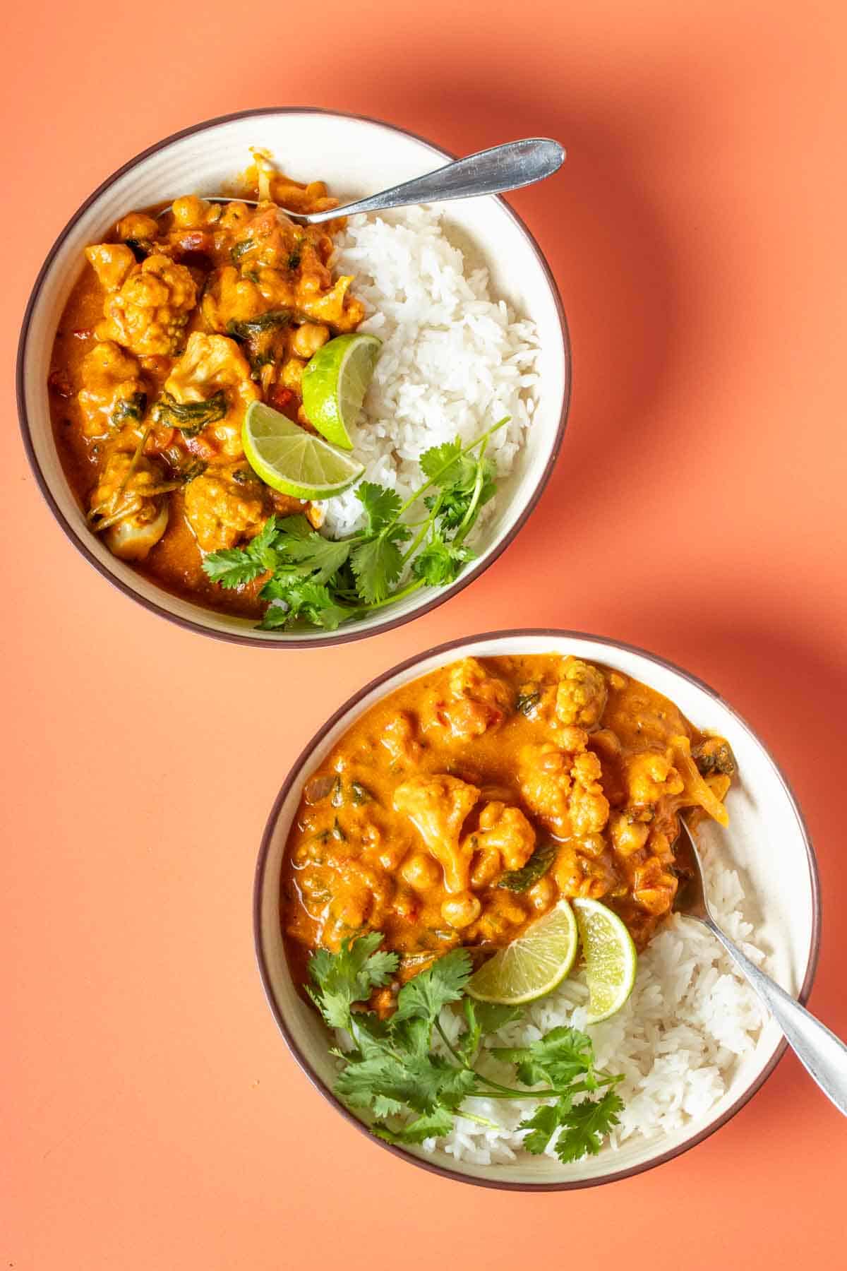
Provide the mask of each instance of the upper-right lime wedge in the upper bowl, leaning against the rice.
[{"label": "upper-right lime wedge in the upper bowl, leaning against the rice", "polygon": [[382,341],[354,333],[337,336],[303,367],[301,390],[306,418],[335,446],[352,450],[349,428],[356,423]]}]

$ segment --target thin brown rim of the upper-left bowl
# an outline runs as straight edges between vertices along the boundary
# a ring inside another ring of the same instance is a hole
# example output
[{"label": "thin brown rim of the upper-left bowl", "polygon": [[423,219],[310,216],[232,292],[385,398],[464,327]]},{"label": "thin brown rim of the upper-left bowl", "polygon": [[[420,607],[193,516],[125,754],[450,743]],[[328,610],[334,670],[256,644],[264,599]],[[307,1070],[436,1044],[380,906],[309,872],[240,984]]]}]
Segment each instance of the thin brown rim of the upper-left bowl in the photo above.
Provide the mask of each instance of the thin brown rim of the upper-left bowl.
[{"label": "thin brown rim of the upper-left bowl", "polygon": [[[41,469],[38,458],[36,455],[36,449],[33,445],[32,432],[29,426],[29,417],[27,413],[25,393],[24,393],[24,365],[27,361],[29,327],[34,306],[41,296],[44,280],[47,278],[50,271],[52,269],[53,261],[67,235],[71,233],[71,230],[80,220],[80,217],[89,210],[89,207],[91,207],[93,203],[95,203],[100,198],[100,196],[105,193],[105,191],[109,189],[109,187],[113,186],[114,182],[118,180],[121,177],[123,177],[127,172],[137,167],[145,159],[149,159],[151,155],[156,154],[159,150],[165,149],[166,146],[171,145],[175,141],[182,141],[184,137],[190,137],[196,132],[210,131],[221,125],[232,123],[236,119],[254,118],[258,116],[287,116],[287,114],[320,114],[342,119],[353,119],[361,123],[376,125],[377,127],[387,128],[390,132],[400,133],[401,136],[410,137],[413,141],[418,141],[425,145],[429,150],[433,151],[433,154],[437,158],[443,158],[446,161],[458,158],[457,155],[452,154],[452,151],[443,150],[441,146],[437,146],[428,137],[423,137],[417,132],[411,132],[409,128],[397,127],[394,123],[389,123],[386,119],[380,119],[368,114],[357,114],[354,112],[348,112],[348,111],[330,111],[315,105],[255,107],[248,111],[234,111],[231,114],[218,114],[210,119],[203,119],[199,123],[193,123],[187,128],[180,128],[178,132],[171,132],[169,136],[163,137],[161,141],[156,141],[154,145],[147,146],[145,150],[141,150],[132,159],[128,159],[124,164],[117,168],[109,177],[107,177],[105,180],[103,180],[97,187],[97,189],[91,194],[89,194],[85,202],[80,205],[80,207],[74,212],[67,224],[60,231],[56,240],[53,241],[53,245],[47,253],[47,257],[44,258],[44,263],[38,271],[36,282],[33,283],[33,289],[29,294],[29,300],[27,301],[27,308],[24,310],[24,316],[20,327],[20,337],[18,341],[18,355],[15,364],[15,393],[18,403],[18,421],[20,425],[20,432],[23,437],[27,459],[29,461],[32,473],[36,478],[36,483],[38,484],[41,493],[44,497],[44,501],[47,502],[47,506],[50,507],[56,521],[63,530],[65,535],[70,539],[72,545],[77,549],[77,552],[80,552],[81,555],[88,561],[88,563],[91,564],[98,571],[98,573],[100,573],[108,582],[110,582],[112,586],[117,587],[118,591],[123,592],[123,595],[128,596],[131,600],[135,600],[137,604],[143,605],[143,608],[147,609],[150,613],[157,614],[160,618],[166,618],[169,622],[175,623],[178,627],[182,627],[185,630],[197,632],[202,636],[208,636],[212,637],[213,639],[221,639],[231,644],[244,644],[250,648],[323,648],[329,644],[348,644],[358,639],[370,639],[372,636],[381,636],[385,632],[392,630],[396,627],[403,627],[405,623],[413,622],[415,618],[422,618],[424,614],[432,613],[433,609],[437,609],[439,605],[443,605],[452,596],[458,595],[460,591],[464,591],[465,587],[475,582],[476,578],[479,578],[489,568],[489,566],[494,564],[494,562],[514,541],[514,539],[517,538],[517,535],[530,519],[538,500],[541,498],[541,494],[545,491],[545,487],[547,486],[547,482],[550,480],[565,436],[568,414],[570,411],[571,384],[573,384],[573,351],[570,344],[570,333],[568,329],[568,319],[565,316],[564,304],[561,300],[561,295],[559,292],[559,287],[556,285],[556,280],[552,275],[552,269],[550,268],[544,252],[538,247],[535,236],[527,228],[523,219],[514,211],[513,207],[509,206],[509,203],[505,202],[505,200],[500,194],[490,196],[497,200],[503,211],[507,214],[507,216],[510,217],[518,231],[523,235],[530,249],[536,257],[536,261],[541,268],[542,275],[546,278],[547,286],[550,289],[554,300],[554,306],[556,309],[556,315],[559,318],[563,356],[565,362],[565,391],[561,402],[561,411],[559,414],[559,425],[556,427],[556,435],[552,440],[552,445],[544,472],[538,477],[536,486],[531,491],[530,497],[527,498],[527,502],[524,503],[517,520],[510,526],[508,533],[505,533],[503,538],[493,545],[488,557],[484,561],[480,561],[477,564],[475,564],[471,569],[467,571],[467,573],[460,577],[456,582],[450,583],[450,586],[447,587],[438,588],[432,596],[432,599],[423,601],[420,605],[411,609],[408,614],[403,614],[395,618],[386,616],[383,620],[378,622],[375,627],[371,627],[367,630],[362,632],[350,632],[350,630],[345,632],[344,628],[340,628],[340,630],[338,632],[330,632],[323,636],[315,634],[312,637],[302,637],[302,638],[293,637],[287,639],[273,636],[263,636],[262,638],[257,638],[251,632],[248,633],[239,630],[212,629],[201,620],[185,618],[182,614],[173,613],[170,609],[165,608],[164,604],[159,604],[147,596],[142,596],[138,591],[135,590],[135,587],[123,582],[123,580],[116,577],[103,564],[103,562],[99,561],[98,557],[90,550],[88,544],[77,535],[76,530],[74,529],[74,526],[70,524],[70,521],[60,508],[50,488],[50,483]],[[168,595],[166,588],[161,587],[159,590],[161,590],[165,595]]]}]

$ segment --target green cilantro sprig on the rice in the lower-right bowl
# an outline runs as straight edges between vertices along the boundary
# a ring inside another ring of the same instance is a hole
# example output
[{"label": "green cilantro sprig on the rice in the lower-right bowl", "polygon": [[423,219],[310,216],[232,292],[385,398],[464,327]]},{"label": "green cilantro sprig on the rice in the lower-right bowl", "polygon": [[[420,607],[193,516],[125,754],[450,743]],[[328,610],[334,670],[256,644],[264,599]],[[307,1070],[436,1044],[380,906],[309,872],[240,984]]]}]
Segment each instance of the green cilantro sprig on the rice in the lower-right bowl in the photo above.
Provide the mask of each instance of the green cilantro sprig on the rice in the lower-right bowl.
[{"label": "green cilantro sprig on the rice in the lower-right bowl", "polygon": [[[396,953],[381,949],[380,932],[344,941],[338,953],[319,949],[310,960],[310,996],[330,1028],[344,1028],[352,1050],[335,1092],[367,1117],[389,1143],[415,1144],[450,1134],[457,1116],[486,1121],[464,1107],[469,1098],[541,1102],[518,1126],[523,1146],[538,1154],[552,1146],[561,1162],[596,1155],[618,1124],[622,1101],[613,1087],[622,1077],[594,1066],[590,1037],[578,1028],[554,1028],[524,1047],[486,1047],[483,1038],[519,1016],[519,1009],[475,1002],[465,988],[472,966],[453,949],[400,989],[396,1009],[381,1019],[366,1008],[375,989],[394,979]],[[464,1030],[451,1042],[444,1007],[458,1007]],[[433,1051],[438,1035],[442,1051]],[[523,1089],[503,1085],[484,1070],[486,1057],[512,1064]]]}]

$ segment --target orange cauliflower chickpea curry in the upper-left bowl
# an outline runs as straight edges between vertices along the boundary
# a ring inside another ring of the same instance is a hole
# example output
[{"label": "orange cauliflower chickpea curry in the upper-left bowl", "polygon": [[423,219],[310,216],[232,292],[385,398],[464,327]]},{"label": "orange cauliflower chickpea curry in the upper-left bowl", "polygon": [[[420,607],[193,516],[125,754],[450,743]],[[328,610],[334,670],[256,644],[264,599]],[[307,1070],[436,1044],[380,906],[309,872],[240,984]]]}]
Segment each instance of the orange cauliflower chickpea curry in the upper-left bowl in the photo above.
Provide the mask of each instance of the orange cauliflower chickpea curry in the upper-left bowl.
[{"label": "orange cauliflower chickpea curry in the upper-left bowl", "polygon": [[[267,163],[253,174],[262,197],[293,211],[335,206],[320,182],[298,184]],[[203,573],[203,552],[249,540],[272,512],[320,521],[316,508],[253,473],[241,423],[262,399],[309,427],[302,369],[363,316],[352,280],[331,277],[333,234],[343,224],[301,226],[272,202],[250,208],[196,196],[159,216],[128,212],[86,249],[65,306],[48,388],[67,480],[116,555],[210,609],[260,616],[263,580],[223,591]],[[154,404],[168,391],[189,408],[218,394],[217,417],[188,431],[168,426],[169,417],[156,422]],[[185,482],[192,472],[199,475]]]}]

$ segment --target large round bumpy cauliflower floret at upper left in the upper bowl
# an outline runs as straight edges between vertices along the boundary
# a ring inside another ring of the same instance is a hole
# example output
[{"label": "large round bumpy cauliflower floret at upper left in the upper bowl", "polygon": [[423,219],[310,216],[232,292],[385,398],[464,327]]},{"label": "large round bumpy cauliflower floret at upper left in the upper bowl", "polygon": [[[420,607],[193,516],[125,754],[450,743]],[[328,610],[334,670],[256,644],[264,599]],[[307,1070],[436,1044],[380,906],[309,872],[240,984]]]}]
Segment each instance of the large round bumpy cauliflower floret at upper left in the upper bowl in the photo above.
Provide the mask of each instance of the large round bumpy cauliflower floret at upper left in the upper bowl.
[{"label": "large round bumpy cauliflower floret at upper left in the upper bowl", "polygon": [[[132,255],[130,248],[122,250]],[[166,255],[149,255],[133,264],[118,291],[107,295],[98,339],[114,339],[140,357],[173,356],[196,302],[189,269]]]}]

